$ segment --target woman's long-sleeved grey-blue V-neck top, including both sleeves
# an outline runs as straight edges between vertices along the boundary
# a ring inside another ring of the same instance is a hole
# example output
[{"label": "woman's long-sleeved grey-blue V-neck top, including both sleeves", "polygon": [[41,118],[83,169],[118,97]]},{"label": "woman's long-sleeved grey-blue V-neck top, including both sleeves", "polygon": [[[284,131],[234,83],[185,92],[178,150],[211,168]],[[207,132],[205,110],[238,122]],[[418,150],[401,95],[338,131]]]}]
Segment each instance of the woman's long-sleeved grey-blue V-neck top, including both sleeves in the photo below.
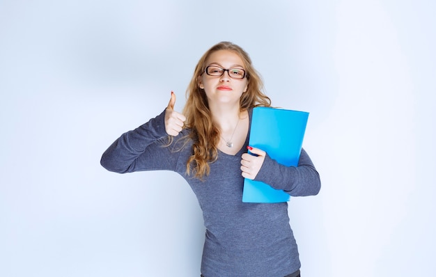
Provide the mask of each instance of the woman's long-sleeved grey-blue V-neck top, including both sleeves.
[{"label": "woman's long-sleeved grey-blue V-neck top, including both sleeves", "polygon": [[[250,120],[251,114],[250,110]],[[297,271],[300,262],[288,203],[242,203],[240,160],[249,137],[234,156],[219,151],[217,161],[210,164],[210,175],[201,181],[186,174],[192,141],[184,144],[180,138],[189,129],[164,146],[168,136],[164,115],[121,135],[102,155],[102,166],[117,173],[175,171],[185,178],[203,211],[206,232],[201,273],[205,277],[282,277]],[[304,150],[297,167],[283,166],[266,155],[255,180],[291,196],[320,191],[318,172]]]}]

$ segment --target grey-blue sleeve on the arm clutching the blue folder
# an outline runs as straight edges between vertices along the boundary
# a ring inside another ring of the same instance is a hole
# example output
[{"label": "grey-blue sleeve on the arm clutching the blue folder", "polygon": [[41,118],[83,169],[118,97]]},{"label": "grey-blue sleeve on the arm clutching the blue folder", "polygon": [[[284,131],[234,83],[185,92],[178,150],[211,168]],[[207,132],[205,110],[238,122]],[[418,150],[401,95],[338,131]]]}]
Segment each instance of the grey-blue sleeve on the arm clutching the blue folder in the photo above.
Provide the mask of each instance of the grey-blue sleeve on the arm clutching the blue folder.
[{"label": "grey-blue sleeve on the arm clutching the blue folder", "polygon": [[267,155],[254,180],[269,184],[274,189],[283,189],[291,196],[316,195],[321,188],[320,175],[304,149],[296,167],[279,164]]}]

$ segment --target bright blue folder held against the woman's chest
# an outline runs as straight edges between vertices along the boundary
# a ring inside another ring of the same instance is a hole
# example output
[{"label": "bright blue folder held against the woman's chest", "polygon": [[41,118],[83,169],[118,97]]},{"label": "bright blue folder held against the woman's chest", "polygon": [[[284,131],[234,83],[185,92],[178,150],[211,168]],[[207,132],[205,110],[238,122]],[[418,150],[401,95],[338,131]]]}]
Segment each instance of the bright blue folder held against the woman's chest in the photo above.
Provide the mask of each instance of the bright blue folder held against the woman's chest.
[{"label": "bright blue folder held against the woman's chest", "polygon": [[[264,150],[279,164],[297,166],[309,113],[256,107],[251,118],[249,145]],[[242,202],[281,203],[290,199],[283,190],[245,179]]]}]

